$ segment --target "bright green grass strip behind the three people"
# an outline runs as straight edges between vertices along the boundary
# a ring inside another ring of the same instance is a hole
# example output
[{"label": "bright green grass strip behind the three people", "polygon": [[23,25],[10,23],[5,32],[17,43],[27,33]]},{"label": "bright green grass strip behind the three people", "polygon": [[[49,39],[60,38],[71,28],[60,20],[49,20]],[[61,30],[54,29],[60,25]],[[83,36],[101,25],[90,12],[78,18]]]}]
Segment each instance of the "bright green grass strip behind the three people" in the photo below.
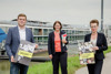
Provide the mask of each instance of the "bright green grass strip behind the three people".
[{"label": "bright green grass strip behind the three people", "polygon": [[[109,50],[104,51],[104,54],[109,52],[111,52],[111,46],[109,46]],[[79,55],[68,57],[68,74],[75,74],[75,71],[83,66],[85,65],[80,65]],[[29,67],[28,74],[52,74],[52,63],[33,64]]]}]

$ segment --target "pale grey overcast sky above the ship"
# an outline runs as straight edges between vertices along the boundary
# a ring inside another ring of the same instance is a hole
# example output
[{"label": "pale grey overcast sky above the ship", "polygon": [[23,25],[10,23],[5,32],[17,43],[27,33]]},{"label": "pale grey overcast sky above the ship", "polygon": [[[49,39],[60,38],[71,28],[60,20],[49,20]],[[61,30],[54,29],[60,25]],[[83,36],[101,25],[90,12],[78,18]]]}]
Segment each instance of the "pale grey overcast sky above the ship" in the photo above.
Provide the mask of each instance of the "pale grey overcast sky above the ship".
[{"label": "pale grey overcast sky above the ship", "polygon": [[[101,19],[101,0],[0,0],[0,21],[26,13],[29,20],[89,24]],[[111,0],[104,0],[104,24],[111,24]]]}]

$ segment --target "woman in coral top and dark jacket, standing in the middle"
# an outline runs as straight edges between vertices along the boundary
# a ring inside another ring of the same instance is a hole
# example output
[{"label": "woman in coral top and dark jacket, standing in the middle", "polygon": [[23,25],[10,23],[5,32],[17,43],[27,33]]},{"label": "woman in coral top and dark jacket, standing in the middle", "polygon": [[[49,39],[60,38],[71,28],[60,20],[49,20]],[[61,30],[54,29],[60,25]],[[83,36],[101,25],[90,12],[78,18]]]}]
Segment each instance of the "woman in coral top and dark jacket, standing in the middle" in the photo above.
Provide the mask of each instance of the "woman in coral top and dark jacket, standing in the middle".
[{"label": "woman in coral top and dark jacket, standing in the middle", "polygon": [[48,52],[49,57],[52,60],[53,74],[59,74],[59,63],[62,74],[68,74],[67,71],[67,44],[68,38],[64,31],[61,31],[62,24],[60,21],[56,21],[53,24],[53,32],[49,33],[48,39]]}]

